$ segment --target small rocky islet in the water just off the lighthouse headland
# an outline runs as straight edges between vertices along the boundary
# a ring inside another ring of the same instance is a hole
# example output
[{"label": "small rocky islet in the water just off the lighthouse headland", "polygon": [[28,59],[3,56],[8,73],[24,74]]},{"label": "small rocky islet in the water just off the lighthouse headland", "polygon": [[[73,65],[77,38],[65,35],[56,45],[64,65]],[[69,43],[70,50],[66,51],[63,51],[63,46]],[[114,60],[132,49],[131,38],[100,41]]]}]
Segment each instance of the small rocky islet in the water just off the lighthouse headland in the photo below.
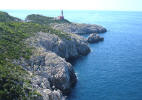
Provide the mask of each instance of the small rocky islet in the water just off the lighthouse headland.
[{"label": "small rocky islet in the water just off the lighthouse headland", "polygon": [[96,33],[93,33],[93,34],[90,34],[89,37],[88,37],[88,42],[89,43],[96,43],[96,42],[99,42],[99,41],[103,41],[104,38],[103,37],[100,37],[99,35],[97,35]]}]

